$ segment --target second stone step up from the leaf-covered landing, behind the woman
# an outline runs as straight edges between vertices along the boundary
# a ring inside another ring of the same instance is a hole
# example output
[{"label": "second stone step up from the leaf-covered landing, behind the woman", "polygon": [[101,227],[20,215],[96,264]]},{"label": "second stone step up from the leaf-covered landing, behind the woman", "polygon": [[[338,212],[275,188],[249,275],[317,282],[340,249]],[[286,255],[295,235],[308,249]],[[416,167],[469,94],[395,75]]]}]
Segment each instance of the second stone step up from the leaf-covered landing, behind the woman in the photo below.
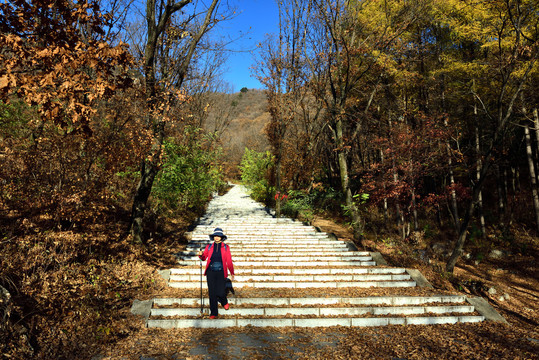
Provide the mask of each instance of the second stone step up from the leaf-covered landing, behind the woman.
[{"label": "second stone step up from the leaf-covered landing, behind the woman", "polygon": [[[361,274],[403,274],[406,273],[404,268],[376,268],[376,267],[365,267],[365,268],[236,268],[237,275],[361,275]],[[192,268],[175,268],[170,269],[170,275],[200,275],[200,267]]]}]

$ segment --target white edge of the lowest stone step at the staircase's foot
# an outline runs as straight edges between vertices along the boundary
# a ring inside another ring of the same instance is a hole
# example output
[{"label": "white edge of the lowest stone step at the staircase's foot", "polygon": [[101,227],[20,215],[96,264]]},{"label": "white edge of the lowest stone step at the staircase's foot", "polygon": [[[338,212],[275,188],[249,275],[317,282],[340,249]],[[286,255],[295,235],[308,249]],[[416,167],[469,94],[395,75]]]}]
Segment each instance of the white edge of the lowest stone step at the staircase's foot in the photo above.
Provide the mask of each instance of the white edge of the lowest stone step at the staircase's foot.
[{"label": "white edge of the lowest stone step at the staircase's foot", "polygon": [[386,325],[435,325],[455,324],[458,322],[481,322],[484,316],[425,316],[398,318],[303,318],[303,319],[149,319],[146,323],[151,328],[227,328],[227,327],[363,327]]}]

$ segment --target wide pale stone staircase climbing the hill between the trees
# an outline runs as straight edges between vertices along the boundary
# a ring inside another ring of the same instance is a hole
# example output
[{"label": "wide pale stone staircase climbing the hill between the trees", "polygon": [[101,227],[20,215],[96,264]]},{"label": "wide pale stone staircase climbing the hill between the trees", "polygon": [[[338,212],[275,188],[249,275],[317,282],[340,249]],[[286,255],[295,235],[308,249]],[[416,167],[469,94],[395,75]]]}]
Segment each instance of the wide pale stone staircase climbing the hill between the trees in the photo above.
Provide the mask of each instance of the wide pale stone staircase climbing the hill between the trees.
[{"label": "wide pale stone staircase climbing the hill between the trees", "polygon": [[[201,314],[200,296],[136,301],[132,312],[144,315],[146,326],[382,326],[492,318],[493,309],[481,298],[436,294],[418,271],[389,267],[378,253],[358,251],[313,226],[274,218],[242,186],[209,204],[178,254],[178,267],[163,272],[169,286],[191,295],[200,291],[196,252],[209,243],[215,227],[228,236],[234,261],[236,295],[229,297],[230,310],[220,308],[219,318],[210,320]],[[418,284],[427,287],[425,295],[406,293]],[[391,295],[369,295],[377,289]],[[204,302],[207,307],[206,294]]]}]

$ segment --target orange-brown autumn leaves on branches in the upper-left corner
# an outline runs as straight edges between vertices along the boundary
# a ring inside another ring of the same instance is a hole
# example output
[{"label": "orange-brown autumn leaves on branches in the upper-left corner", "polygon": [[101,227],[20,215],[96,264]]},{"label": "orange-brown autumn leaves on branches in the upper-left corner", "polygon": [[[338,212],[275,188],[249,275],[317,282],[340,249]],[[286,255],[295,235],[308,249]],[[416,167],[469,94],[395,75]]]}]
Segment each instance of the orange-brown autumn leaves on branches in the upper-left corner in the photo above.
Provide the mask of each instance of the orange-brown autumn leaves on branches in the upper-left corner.
[{"label": "orange-brown autumn leaves on branches in the upper-left corner", "polygon": [[17,97],[44,122],[91,132],[96,104],[129,84],[131,64],[124,45],[106,42],[97,3],[14,1],[0,11],[2,100]]}]

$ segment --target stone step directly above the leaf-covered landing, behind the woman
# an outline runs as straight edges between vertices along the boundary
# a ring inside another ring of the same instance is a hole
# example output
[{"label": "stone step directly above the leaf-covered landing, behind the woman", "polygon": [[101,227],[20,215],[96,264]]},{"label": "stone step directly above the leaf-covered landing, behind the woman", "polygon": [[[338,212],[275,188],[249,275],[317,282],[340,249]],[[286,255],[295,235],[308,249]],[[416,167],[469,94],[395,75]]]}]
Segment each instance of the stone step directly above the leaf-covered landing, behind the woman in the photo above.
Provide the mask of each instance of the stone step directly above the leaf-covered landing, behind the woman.
[{"label": "stone step directly above the leaf-covered landing, behind the woman", "polygon": [[[394,275],[398,276],[398,275]],[[169,281],[168,285],[179,289],[197,289],[200,287],[200,277],[196,281],[176,282]],[[234,282],[234,288],[252,287],[252,288],[287,288],[287,289],[305,289],[305,288],[370,288],[370,287],[415,287],[417,284],[411,280],[380,280],[380,281],[259,281],[259,282]]]}]

